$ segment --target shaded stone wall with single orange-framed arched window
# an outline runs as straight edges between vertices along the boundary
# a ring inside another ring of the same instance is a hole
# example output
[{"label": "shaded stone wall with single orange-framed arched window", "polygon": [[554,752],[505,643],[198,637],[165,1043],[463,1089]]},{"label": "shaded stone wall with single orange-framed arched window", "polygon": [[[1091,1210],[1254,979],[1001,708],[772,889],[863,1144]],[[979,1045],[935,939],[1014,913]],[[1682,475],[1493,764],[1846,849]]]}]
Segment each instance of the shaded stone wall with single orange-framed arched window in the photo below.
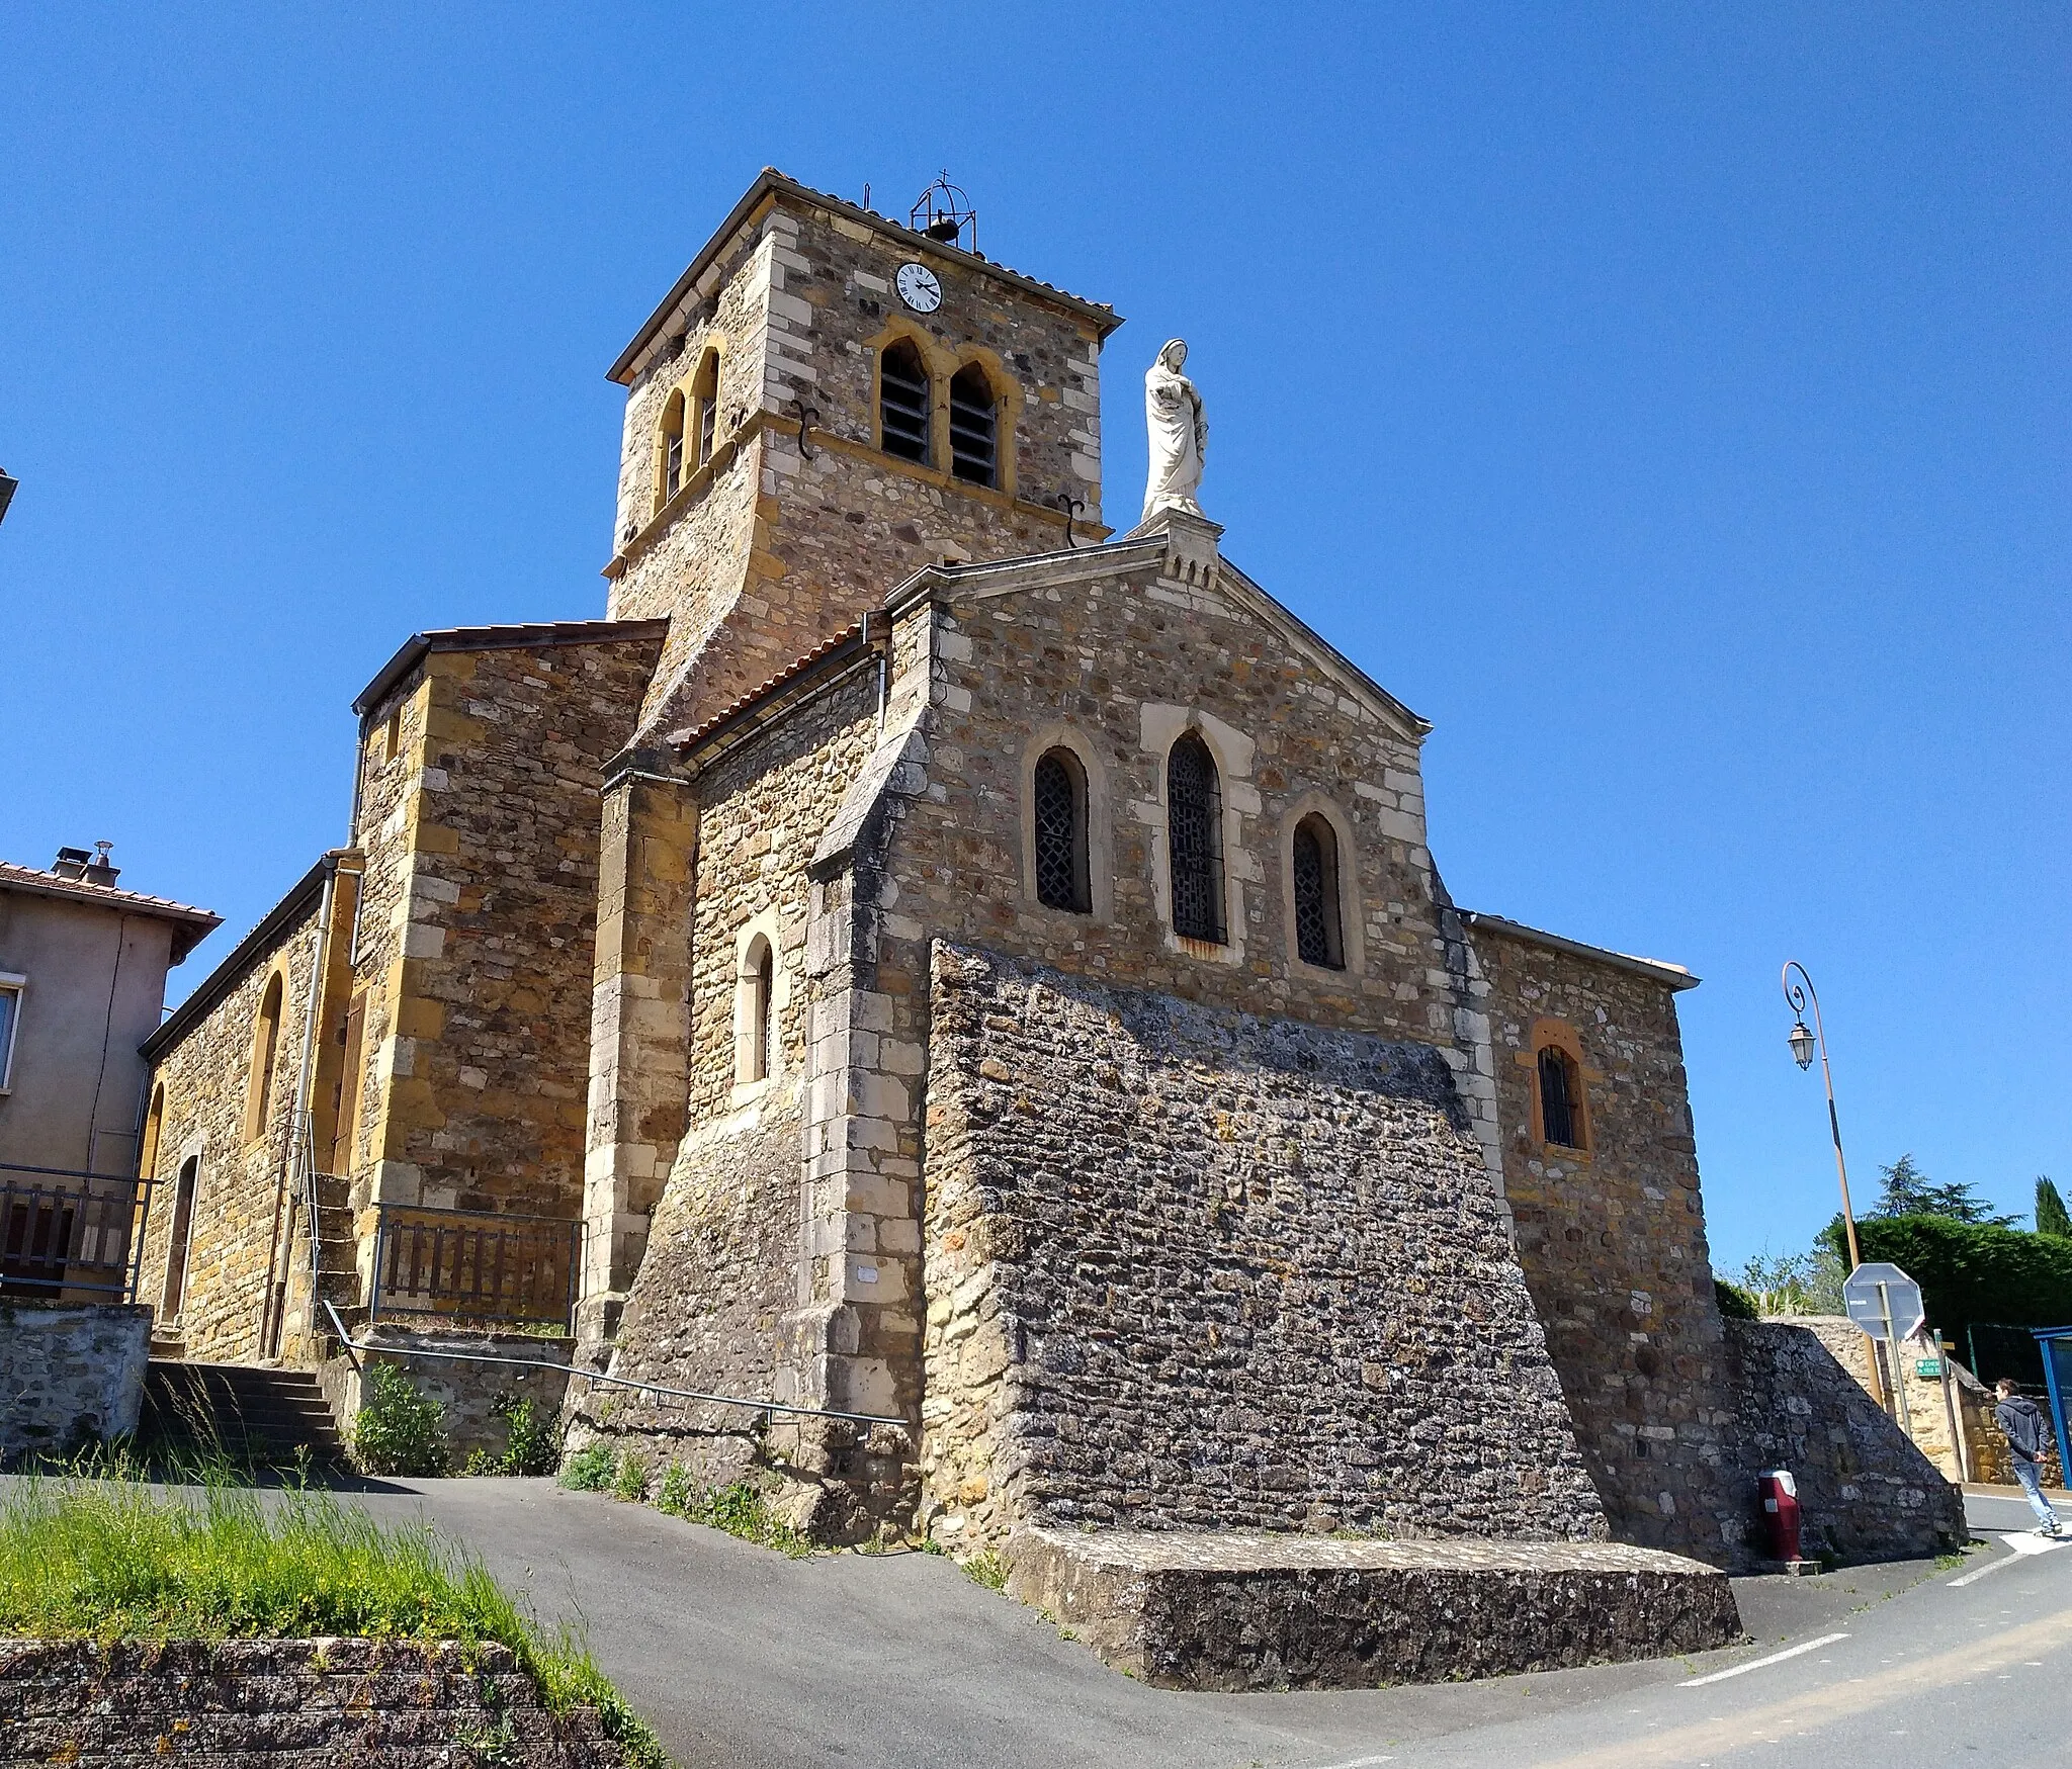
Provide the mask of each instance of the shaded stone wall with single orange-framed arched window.
[{"label": "shaded stone wall with single orange-framed arched window", "polygon": [[[1488,924],[1475,955],[1519,1262],[1612,1533],[1728,1564],[1753,1489],[1732,1446],[1676,996]],[[1542,1019],[1581,1042],[1587,1152],[1535,1133]]]}]

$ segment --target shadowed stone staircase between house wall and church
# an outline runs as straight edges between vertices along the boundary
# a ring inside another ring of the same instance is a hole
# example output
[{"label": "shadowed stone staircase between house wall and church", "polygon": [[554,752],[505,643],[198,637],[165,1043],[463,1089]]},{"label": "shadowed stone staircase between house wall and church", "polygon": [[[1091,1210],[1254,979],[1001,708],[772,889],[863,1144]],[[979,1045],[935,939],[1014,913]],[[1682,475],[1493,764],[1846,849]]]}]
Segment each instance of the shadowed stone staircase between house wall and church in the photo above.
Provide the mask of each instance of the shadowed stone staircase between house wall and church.
[{"label": "shadowed stone staircase between house wall and church", "polygon": [[346,1467],[332,1409],[307,1369],[153,1359],[143,1382],[141,1440],[170,1460],[313,1473]]}]

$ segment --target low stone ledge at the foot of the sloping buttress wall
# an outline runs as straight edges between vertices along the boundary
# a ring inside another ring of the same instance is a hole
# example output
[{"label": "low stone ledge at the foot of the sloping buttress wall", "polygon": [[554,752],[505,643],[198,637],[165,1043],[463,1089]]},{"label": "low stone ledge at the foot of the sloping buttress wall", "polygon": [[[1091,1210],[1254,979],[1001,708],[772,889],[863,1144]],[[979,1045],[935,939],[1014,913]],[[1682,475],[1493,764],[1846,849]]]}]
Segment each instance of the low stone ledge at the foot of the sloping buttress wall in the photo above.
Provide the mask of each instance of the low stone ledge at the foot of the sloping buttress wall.
[{"label": "low stone ledge at the foot of the sloping buttress wall", "polygon": [[1724,1572],[1598,1541],[1021,1529],[1007,1591],[1160,1688],[1374,1688],[1740,1639]]}]

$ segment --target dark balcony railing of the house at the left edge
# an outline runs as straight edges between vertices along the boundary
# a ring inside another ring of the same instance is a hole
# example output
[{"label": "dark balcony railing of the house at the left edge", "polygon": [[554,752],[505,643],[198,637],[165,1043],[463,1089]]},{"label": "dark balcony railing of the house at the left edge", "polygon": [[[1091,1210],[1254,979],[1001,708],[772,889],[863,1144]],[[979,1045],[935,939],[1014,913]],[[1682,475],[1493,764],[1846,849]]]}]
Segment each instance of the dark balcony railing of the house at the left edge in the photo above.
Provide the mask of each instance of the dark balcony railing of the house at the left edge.
[{"label": "dark balcony railing of the house at the left edge", "polygon": [[149,1179],[0,1162],[0,1295],[137,1297]]}]

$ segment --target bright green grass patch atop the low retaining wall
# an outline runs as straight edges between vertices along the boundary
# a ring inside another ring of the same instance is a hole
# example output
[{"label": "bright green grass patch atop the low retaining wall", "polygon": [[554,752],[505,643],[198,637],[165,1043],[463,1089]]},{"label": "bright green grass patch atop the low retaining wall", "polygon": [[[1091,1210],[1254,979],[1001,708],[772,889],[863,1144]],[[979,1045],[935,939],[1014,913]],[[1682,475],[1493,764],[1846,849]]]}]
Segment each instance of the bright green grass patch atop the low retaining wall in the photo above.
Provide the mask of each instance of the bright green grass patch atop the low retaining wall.
[{"label": "bright green grass patch atop the low retaining wall", "polygon": [[628,1763],[669,1769],[566,1628],[541,1630],[481,1560],[429,1529],[383,1529],[329,1494],[261,1504],[222,1481],[182,1496],[135,1475],[23,1479],[0,1496],[0,1634],[503,1645],[551,1713],[595,1707]]}]

